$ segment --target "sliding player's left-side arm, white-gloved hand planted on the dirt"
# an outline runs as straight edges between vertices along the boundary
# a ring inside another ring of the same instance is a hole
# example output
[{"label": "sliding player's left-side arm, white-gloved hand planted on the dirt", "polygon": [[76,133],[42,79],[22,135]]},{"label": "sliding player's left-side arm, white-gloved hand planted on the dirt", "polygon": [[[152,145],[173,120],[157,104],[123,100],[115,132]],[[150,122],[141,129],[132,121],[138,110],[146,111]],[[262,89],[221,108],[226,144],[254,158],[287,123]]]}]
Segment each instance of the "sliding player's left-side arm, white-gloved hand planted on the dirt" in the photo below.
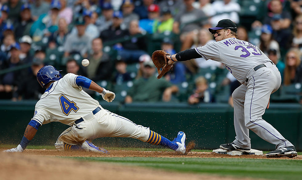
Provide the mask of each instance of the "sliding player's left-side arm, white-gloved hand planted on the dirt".
[{"label": "sliding player's left-side arm, white-gloved hand planted on the dirt", "polygon": [[36,135],[36,132],[38,131],[39,125],[34,125],[35,127],[32,126],[34,123],[38,123],[38,122],[32,122],[32,121],[34,121],[34,120],[31,120],[31,122],[27,125],[23,138],[21,140],[21,143],[17,147],[8,149],[4,152],[23,152],[24,151],[24,149],[27,147],[29,142],[34,138],[34,136]]}]

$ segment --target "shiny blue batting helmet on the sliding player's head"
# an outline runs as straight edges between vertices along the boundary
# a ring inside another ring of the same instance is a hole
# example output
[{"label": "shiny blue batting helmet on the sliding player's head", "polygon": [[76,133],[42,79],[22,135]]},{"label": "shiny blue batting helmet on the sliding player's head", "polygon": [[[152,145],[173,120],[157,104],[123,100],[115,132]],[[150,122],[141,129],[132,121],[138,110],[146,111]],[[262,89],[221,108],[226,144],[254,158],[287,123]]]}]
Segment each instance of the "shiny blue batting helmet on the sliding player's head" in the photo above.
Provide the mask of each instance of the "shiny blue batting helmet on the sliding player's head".
[{"label": "shiny blue batting helmet on the sliding player's head", "polygon": [[37,73],[37,80],[42,87],[50,81],[57,81],[61,78],[60,71],[57,71],[53,66],[44,66]]}]

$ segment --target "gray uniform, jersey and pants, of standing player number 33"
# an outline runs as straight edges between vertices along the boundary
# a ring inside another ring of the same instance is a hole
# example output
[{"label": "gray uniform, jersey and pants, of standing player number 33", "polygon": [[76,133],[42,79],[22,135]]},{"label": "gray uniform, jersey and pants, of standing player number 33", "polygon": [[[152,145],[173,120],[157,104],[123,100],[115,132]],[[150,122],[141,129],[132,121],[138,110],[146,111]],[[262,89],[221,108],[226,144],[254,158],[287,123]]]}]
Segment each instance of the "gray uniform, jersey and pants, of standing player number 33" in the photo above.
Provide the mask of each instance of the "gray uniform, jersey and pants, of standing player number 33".
[{"label": "gray uniform, jersey and pants, of standing player number 33", "polygon": [[[195,48],[206,60],[225,64],[233,76],[242,83],[233,94],[234,143],[250,149],[249,129],[277,148],[293,146],[271,124],[262,119],[271,93],[281,84],[278,68],[255,45],[236,38],[206,44]],[[254,69],[256,66],[260,68]],[[258,66],[259,67],[259,66]]]}]

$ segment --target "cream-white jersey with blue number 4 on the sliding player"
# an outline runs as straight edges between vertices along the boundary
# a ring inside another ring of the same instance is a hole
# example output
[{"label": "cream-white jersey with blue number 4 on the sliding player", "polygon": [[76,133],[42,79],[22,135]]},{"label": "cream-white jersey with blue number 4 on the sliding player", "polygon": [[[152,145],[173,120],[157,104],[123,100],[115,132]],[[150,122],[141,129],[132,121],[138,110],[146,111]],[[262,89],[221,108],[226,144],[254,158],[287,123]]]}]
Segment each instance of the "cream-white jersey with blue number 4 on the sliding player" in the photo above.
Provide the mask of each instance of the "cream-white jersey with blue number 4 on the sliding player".
[{"label": "cream-white jersey with blue number 4 on the sliding player", "polygon": [[81,117],[91,113],[100,104],[76,84],[77,75],[69,73],[50,86],[35,106],[32,120],[41,125],[61,122],[72,125]]}]

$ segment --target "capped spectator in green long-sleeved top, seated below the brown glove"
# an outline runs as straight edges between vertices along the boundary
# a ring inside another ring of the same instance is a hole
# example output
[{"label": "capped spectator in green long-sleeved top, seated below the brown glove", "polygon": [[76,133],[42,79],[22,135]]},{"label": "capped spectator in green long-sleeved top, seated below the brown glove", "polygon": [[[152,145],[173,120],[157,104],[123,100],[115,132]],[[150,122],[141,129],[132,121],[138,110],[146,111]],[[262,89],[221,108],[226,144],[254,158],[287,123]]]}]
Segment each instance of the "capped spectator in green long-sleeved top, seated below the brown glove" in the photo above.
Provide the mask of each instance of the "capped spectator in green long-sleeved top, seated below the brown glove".
[{"label": "capped spectator in green long-sleeved top, seated below the brown glove", "polygon": [[128,90],[125,103],[170,101],[171,95],[178,92],[178,87],[170,84],[165,78],[157,80],[154,76],[155,68],[152,61],[145,61],[143,76],[133,82]]}]

